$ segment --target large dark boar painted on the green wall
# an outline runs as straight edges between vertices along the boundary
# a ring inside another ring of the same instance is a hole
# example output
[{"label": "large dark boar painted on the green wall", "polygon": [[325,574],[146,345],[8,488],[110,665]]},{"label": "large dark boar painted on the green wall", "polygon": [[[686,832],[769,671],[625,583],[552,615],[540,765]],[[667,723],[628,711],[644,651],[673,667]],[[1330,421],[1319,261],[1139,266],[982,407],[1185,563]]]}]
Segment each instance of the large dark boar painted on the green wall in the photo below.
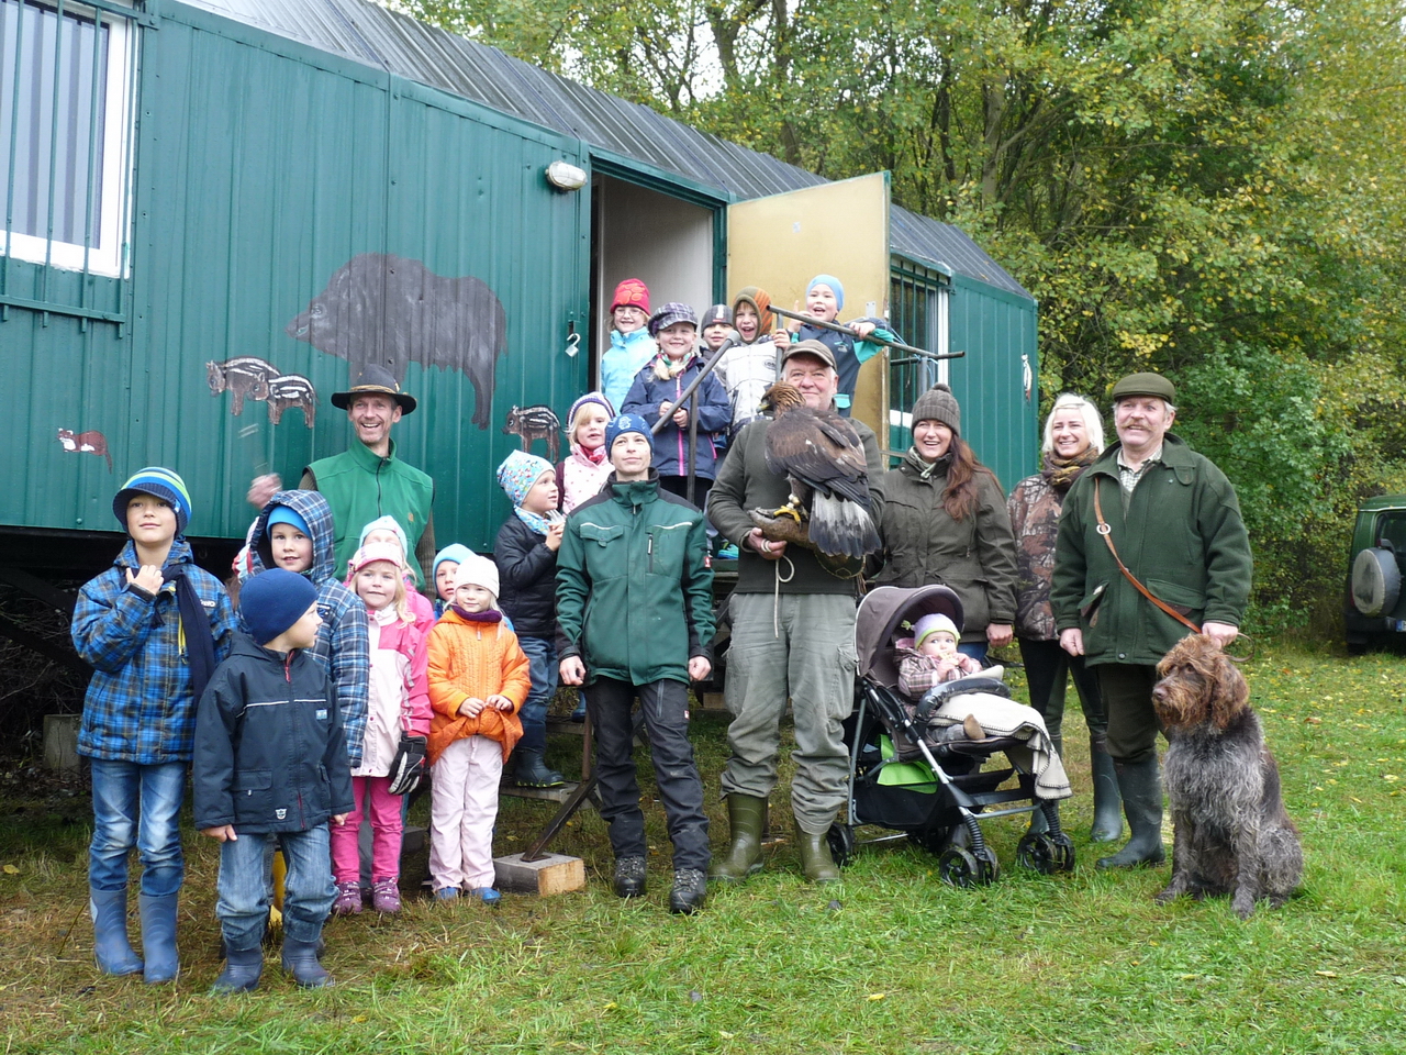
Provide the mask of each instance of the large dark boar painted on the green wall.
[{"label": "large dark boar painted on the green wall", "polygon": [[412,362],[458,370],[474,384],[474,425],[488,428],[508,315],[479,279],[446,279],[419,260],[361,253],[336,270],[285,332],[347,360],[352,377],[370,363],[396,381]]}]

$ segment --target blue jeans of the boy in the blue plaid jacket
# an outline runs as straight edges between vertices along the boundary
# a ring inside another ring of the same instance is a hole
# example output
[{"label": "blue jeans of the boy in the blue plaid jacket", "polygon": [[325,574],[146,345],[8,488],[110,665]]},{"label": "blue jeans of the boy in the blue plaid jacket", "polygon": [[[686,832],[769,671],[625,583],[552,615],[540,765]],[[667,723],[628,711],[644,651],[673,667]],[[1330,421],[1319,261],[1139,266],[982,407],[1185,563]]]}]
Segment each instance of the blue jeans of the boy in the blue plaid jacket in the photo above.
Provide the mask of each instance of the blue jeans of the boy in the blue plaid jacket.
[{"label": "blue jeans of the boy in the blue plaid jacket", "polygon": [[127,857],[142,859],[142,893],[165,897],[180,890],[186,858],[180,848],[180,806],[186,762],[138,765],[93,760],[93,841],[89,885],[127,889]]}]

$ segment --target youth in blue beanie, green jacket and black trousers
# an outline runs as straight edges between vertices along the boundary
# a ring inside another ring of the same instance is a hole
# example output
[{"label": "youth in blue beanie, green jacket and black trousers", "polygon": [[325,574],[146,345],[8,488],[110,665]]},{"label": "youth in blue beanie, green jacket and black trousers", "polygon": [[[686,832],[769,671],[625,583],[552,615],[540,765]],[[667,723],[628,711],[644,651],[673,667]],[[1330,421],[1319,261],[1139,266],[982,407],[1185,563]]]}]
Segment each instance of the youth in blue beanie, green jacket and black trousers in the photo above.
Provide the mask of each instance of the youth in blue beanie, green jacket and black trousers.
[{"label": "youth in blue beanie, green jacket and black trousers", "polygon": [[572,509],[557,554],[561,681],[586,686],[596,733],[600,816],[610,826],[614,892],[644,893],[644,813],[634,776],[636,696],[673,841],[669,912],[693,913],[707,893],[707,814],[689,743],[689,679],[713,670],[713,568],[703,513],[659,488],[648,423],[621,414],[606,426],[614,471]]}]

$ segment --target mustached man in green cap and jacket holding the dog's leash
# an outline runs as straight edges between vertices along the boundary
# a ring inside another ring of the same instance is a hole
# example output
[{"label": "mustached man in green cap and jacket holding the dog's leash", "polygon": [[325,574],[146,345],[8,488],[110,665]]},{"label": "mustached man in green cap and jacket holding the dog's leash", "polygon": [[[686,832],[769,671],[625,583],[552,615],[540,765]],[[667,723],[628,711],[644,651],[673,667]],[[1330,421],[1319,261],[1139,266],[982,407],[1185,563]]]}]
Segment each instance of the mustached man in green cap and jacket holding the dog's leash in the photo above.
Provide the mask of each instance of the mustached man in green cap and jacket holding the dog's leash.
[{"label": "mustached man in green cap and jacket holding the dog's leash", "polygon": [[1157,661],[1191,633],[1188,623],[1222,647],[1233,641],[1250,598],[1240,502],[1225,473],[1170,432],[1175,398],[1160,374],[1114,385],[1118,442],[1070,488],[1059,523],[1054,626],[1064,651],[1098,674],[1132,831],[1099,868],[1163,859]]}]

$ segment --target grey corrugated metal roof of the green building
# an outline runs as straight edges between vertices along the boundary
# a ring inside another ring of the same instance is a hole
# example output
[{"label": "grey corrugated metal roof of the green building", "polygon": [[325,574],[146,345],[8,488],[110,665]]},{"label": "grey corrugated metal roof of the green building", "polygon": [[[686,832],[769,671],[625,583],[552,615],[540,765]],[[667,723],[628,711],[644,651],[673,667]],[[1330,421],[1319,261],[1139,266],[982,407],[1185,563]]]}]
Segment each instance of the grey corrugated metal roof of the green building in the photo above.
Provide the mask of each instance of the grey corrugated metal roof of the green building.
[{"label": "grey corrugated metal roof of the green building", "polygon": [[[770,155],[700,132],[638,103],[578,84],[368,0],[180,1],[474,100],[737,198],[828,183]],[[945,264],[969,279],[1031,298],[950,224],[894,205],[889,245],[894,253],[918,263]]]}]

